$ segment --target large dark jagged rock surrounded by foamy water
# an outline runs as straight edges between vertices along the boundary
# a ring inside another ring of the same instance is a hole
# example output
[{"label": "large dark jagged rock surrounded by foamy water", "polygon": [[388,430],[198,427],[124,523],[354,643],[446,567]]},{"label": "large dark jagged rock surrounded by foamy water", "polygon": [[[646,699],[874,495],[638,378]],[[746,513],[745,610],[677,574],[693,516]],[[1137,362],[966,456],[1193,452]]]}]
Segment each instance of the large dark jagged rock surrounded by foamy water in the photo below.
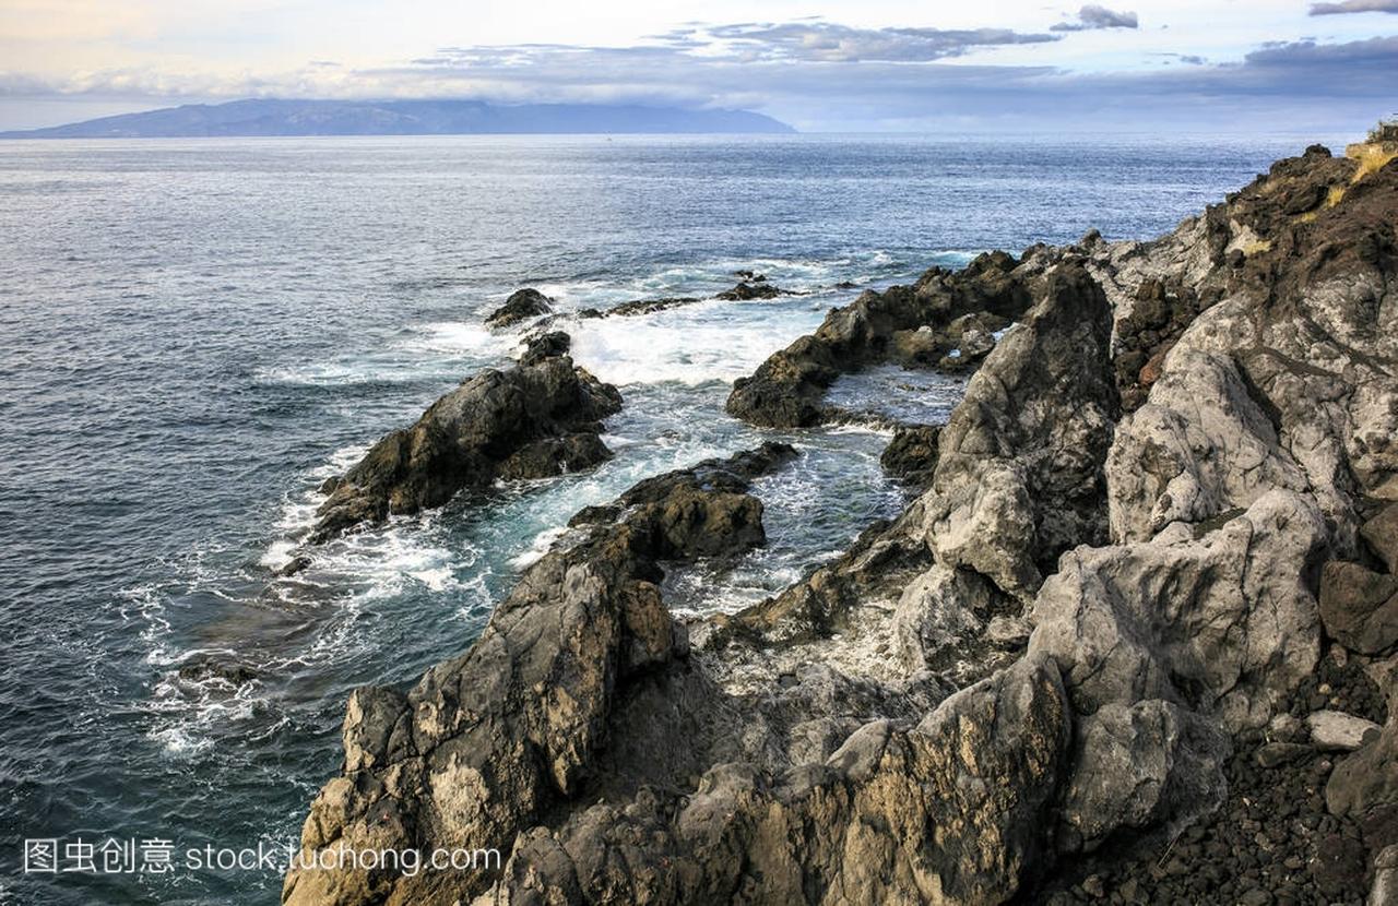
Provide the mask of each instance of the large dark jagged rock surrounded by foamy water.
[{"label": "large dark jagged rock surrounded by foamy water", "polygon": [[310,541],[440,506],[498,478],[545,478],[610,459],[601,419],[621,410],[621,393],[573,365],[566,350],[568,334],[537,337],[519,365],[481,372],[411,428],[386,435],[326,482]]}]

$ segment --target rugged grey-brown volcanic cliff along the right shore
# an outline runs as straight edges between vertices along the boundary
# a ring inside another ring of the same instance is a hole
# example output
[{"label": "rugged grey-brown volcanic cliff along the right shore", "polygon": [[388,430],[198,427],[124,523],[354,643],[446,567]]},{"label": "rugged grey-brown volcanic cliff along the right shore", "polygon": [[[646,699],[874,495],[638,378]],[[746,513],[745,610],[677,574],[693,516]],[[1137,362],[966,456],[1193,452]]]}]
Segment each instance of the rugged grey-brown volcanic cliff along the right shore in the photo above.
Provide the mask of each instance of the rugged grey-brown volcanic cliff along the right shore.
[{"label": "rugged grey-brown volcanic cliff along the right shore", "polygon": [[[1362,720],[1398,663],[1398,165],[1357,172],[1311,148],[1155,242],[1036,246],[833,313],[731,411],[809,424],[899,331],[1018,319],[925,492],[691,625],[661,569],[761,542],[747,482],[780,452],[580,515],[468,653],[355,693],[302,837],[495,846],[503,870],[299,871],[284,900],[1071,900],[1176,839],[1198,864],[1142,874],[1162,896],[1352,899],[1398,843],[1398,723]],[[1349,735],[1325,716],[1346,709]],[[1309,854],[1275,872],[1261,842],[1211,849],[1272,769],[1320,810],[1279,812],[1278,861]]]}]

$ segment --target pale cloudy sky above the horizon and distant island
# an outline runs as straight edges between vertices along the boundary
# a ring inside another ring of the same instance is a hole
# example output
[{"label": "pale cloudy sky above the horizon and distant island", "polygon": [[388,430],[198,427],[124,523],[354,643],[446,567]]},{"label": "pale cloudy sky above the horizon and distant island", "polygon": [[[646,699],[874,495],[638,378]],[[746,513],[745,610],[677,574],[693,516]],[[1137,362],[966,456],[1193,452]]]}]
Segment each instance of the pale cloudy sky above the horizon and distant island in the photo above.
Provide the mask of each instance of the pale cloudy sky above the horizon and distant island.
[{"label": "pale cloudy sky above the horizon and distant island", "polygon": [[252,96],[1336,133],[1398,113],[1398,0],[0,0],[0,130]]}]

